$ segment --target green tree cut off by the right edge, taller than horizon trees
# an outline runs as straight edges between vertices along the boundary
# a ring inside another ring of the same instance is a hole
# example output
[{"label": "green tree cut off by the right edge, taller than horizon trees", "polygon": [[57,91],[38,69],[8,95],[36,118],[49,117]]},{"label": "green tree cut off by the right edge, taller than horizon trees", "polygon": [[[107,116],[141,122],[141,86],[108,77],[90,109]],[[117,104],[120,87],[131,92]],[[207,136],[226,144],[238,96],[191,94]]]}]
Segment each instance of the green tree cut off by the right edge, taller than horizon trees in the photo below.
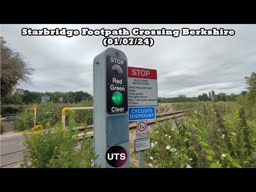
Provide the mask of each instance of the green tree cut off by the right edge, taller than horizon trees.
[{"label": "green tree cut off by the right edge, taller than horizon trees", "polygon": [[246,79],[246,89],[248,90],[248,99],[252,104],[256,103],[256,73],[252,72],[250,77],[244,77]]}]

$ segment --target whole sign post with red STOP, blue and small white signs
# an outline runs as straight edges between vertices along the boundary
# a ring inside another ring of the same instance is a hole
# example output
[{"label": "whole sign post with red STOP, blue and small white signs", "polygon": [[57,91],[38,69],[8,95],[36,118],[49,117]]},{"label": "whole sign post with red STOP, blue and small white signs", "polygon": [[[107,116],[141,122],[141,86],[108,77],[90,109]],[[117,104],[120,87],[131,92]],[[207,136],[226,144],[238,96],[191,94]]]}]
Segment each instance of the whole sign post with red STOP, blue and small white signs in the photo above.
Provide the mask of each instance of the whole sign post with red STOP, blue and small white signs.
[{"label": "whole sign post with red STOP, blue and small white signs", "polygon": [[129,121],[137,121],[134,147],[139,154],[139,168],[145,168],[144,151],[150,149],[147,120],[156,119],[157,99],[157,71],[128,67]]}]

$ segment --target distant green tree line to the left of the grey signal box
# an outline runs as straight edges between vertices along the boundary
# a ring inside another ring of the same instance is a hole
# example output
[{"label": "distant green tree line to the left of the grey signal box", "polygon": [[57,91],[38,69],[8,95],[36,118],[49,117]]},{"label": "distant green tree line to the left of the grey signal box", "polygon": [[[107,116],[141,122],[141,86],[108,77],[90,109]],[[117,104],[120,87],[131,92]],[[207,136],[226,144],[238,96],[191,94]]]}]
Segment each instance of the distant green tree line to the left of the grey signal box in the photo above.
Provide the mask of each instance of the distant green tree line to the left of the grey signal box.
[{"label": "distant green tree line to the left of the grey signal box", "polygon": [[29,104],[41,103],[42,95],[49,95],[50,101],[58,103],[62,97],[62,103],[77,103],[82,100],[91,100],[92,95],[84,91],[76,92],[30,92],[23,89],[15,89],[13,93],[8,93],[1,97],[1,102],[5,104]]}]

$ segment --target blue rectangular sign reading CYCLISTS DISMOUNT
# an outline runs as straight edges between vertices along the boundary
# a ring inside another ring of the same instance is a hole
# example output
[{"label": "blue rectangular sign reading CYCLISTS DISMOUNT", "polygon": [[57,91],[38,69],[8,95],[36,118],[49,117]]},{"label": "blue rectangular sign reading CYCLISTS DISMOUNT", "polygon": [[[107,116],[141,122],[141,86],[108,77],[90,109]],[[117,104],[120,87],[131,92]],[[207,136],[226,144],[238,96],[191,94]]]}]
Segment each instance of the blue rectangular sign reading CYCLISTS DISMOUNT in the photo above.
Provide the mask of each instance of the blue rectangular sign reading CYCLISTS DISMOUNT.
[{"label": "blue rectangular sign reading CYCLISTS DISMOUNT", "polygon": [[129,121],[156,119],[156,107],[129,107]]}]

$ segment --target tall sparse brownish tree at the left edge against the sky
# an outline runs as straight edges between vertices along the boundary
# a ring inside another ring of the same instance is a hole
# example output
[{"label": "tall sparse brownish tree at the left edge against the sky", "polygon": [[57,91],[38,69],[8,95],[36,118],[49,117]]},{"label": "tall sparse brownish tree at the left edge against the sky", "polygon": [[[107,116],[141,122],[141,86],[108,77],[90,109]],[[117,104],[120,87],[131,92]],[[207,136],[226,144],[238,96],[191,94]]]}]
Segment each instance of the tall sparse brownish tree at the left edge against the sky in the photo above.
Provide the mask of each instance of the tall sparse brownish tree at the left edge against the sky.
[{"label": "tall sparse brownish tree at the left edge against the sky", "polygon": [[21,53],[13,50],[3,37],[1,38],[1,97],[11,93],[19,82],[30,83],[35,69]]}]

